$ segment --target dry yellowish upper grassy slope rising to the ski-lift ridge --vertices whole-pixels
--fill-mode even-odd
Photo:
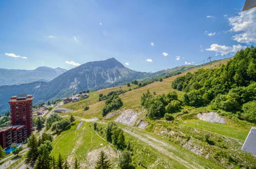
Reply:
[[[214,62],[212,64],[212,66],[207,65],[207,66],[204,66],[201,68],[203,68],[203,69],[216,68],[216,67],[219,67],[221,64],[225,64],[230,59],[231,58],[226,58],[226,59]],[[187,72],[195,72],[198,69],[200,69],[200,68],[194,68]],[[129,91],[129,92],[126,92],[126,93],[120,95],[120,97],[124,103],[123,107],[125,107],[127,109],[140,107],[141,95],[143,93],[145,93],[147,90],[150,90],[151,92],[156,92],[157,95],[167,94],[170,91],[176,91],[178,93],[178,95],[181,96],[183,94],[183,92],[172,89],[171,82],[176,77],[183,76],[187,72],[163,79],[162,82],[160,82],[160,81],[153,82],[145,87],[135,89],[135,90],[132,90],[132,91]],[[129,88],[133,89],[134,87],[135,87],[135,85],[133,85],[133,84],[131,84],[131,87],[122,86],[122,90],[128,90]],[[85,117],[85,118],[91,118],[91,117],[102,118],[101,111],[102,111],[102,108],[104,107],[104,101],[99,102],[99,100],[98,100],[99,94],[100,93],[107,94],[110,91],[117,91],[117,90],[120,90],[120,87],[112,87],[112,88],[102,89],[99,91],[94,91],[89,94],[90,95],[89,98],[84,99],[79,102],[65,104],[62,106],[62,108],[68,108],[68,109],[75,110],[74,115],[76,115],[76,116]],[[90,109],[87,111],[84,111],[83,108],[86,105],[89,105]]]

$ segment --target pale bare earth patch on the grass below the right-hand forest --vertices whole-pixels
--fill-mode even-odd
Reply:
[[[226,123],[225,118],[219,116],[216,112],[209,112],[209,113],[198,113],[196,115],[200,120],[204,120],[207,122],[212,123]]]

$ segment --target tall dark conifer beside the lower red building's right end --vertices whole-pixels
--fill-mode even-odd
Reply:
[[[37,152],[37,146],[38,146],[38,142],[36,140],[36,137],[34,134],[31,134],[30,137],[27,139],[28,141],[28,152],[26,154],[26,159],[25,159],[25,163],[29,164],[30,162],[36,160],[37,156],[38,156],[38,152]]]

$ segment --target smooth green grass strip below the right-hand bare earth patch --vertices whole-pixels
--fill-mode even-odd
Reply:
[[[241,141],[244,141],[249,133],[249,129],[238,128],[227,124],[211,123],[196,119],[186,120],[185,123],[180,125],[186,125],[198,130],[221,134],[231,138],[239,139]]]

